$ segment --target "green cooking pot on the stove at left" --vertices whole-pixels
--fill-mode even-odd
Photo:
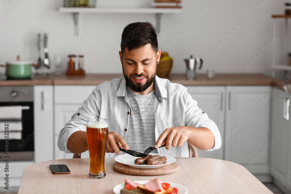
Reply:
[[[31,61],[6,62],[6,76],[10,79],[29,79],[31,77]]]

